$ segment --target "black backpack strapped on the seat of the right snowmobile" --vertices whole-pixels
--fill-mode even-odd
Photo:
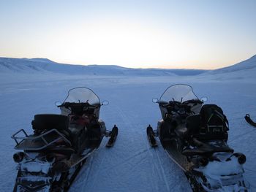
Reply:
[[[200,110],[200,138],[227,140],[228,121],[222,108],[216,104],[205,104]]]

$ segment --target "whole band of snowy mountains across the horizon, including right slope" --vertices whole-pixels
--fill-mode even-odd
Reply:
[[[132,69],[115,65],[59,64],[48,58],[1,58],[0,74],[88,74],[114,76],[210,76],[216,80],[255,78],[256,55],[232,66],[215,70],[200,69]]]

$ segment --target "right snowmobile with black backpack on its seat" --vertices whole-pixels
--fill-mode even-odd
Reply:
[[[243,164],[246,156],[227,145],[228,121],[220,107],[204,104],[189,85],[172,85],[160,99],[162,120],[147,127],[152,147],[157,139],[184,171],[192,191],[247,191]],[[206,100],[204,100],[206,101]]]

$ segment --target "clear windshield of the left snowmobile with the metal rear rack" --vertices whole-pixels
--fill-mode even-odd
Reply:
[[[89,88],[72,88],[69,90],[67,98],[64,100],[65,102],[70,103],[86,103],[88,102],[91,105],[100,105],[99,97],[91,91]]]

